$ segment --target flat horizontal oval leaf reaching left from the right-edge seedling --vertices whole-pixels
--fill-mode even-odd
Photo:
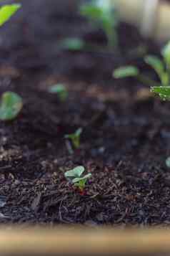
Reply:
[[[119,67],[114,70],[114,78],[136,77],[139,75],[138,68],[134,66]]]

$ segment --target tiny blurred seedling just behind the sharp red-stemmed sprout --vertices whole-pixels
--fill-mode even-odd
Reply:
[[[80,147],[80,139],[81,139],[81,133],[83,129],[79,128],[75,131],[75,133],[70,133],[65,135],[65,138],[67,141],[71,141],[71,145],[67,144],[67,148],[70,153],[74,152],[74,148],[77,149]]]

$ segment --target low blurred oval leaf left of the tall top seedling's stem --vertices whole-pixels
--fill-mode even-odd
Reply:
[[[85,47],[84,40],[79,38],[66,38],[60,41],[59,46],[69,51],[81,51]]]

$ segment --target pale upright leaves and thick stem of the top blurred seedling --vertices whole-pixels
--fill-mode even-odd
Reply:
[[[94,24],[101,27],[107,37],[109,49],[118,46],[116,27],[119,24],[116,8],[111,0],[91,0],[90,3],[82,4],[80,14]]]

